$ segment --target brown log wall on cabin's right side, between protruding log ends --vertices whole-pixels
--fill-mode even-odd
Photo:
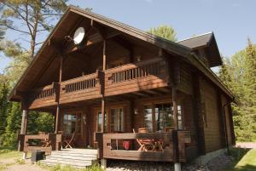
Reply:
[[[217,91],[210,83],[201,78],[201,102],[205,108],[204,115],[204,132],[206,151],[217,151],[222,148],[222,136],[220,128],[221,119],[219,118]]]

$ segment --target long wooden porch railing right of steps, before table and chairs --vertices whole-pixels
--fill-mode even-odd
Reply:
[[[140,150],[137,140],[152,140],[151,149],[148,151]],[[190,132],[183,130],[174,130],[170,133],[103,134],[103,158],[185,162],[185,144],[189,143],[190,140]],[[125,150],[122,146],[124,141],[130,142],[129,150]]]

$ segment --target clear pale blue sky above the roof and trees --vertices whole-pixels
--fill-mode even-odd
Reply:
[[[97,14],[143,31],[172,26],[178,40],[213,31],[225,57],[245,48],[247,37],[256,43],[255,0],[69,0],[69,4],[92,8]],[[8,32],[7,37],[13,40],[19,34]],[[8,63],[2,54],[0,73]]]

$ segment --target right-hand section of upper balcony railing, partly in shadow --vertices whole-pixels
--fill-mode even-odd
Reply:
[[[105,71],[105,95],[128,94],[168,85],[166,61],[153,59]]]

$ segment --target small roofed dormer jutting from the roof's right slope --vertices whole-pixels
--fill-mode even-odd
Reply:
[[[213,32],[178,41],[177,43],[191,48],[206,66],[221,66],[222,60]]]

